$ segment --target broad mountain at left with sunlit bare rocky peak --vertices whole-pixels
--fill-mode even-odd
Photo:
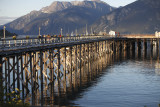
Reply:
[[[38,34],[41,27],[41,34],[71,33],[93,24],[101,16],[114,10],[105,2],[92,1],[55,1],[50,6],[39,11],[32,11],[11,23],[6,24],[9,31],[17,34]]]

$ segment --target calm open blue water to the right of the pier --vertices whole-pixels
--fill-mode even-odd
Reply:
[[[124,55],[122,55],[124,56]],[[82,107],[159,107],[160,63],[153,52],[115,58],[91,86],[71,100]],[[128,55],[131,56],[131,55]]]

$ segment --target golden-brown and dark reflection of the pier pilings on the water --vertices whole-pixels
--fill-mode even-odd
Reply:
[[[98,60],[89,60],[83,63],[81,73],[72,73],[66,78],[66,90],[64,86],[59,86],[59,91],[54,90],[54,100],[51,102],[51,97],[46,99],[47,105],[75,106],[72,101],[80,97],[79,95],[86,91],[89,87],[96,85],[97,79],[103,74],[103,70],[113,62],[113,54],[106,54],[99,57]],[[74,68],[75,69],[75,68]],[[61,81],[62,83],[65,81]],[[72,81],[72,82],[71,82]],[[56,85],[55,85],[56,86]]]

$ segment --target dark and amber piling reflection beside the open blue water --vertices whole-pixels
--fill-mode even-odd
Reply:
[[[83,97],[84,91],[88,88],[94,86],[98,82],[98,78],[103,75],[103,70],[107,66],[113,64],[113,55],[106,54],[104,57],[100,57],[99,60],[94,62],[89,62],[82,67],[81,81],[76,79],[77,84],[71,84],[67,88],[67,92],[61,90],[60,96],[55,96],[54,105],[61,106],[77,106],[73,103],[73,100]],[[77,77],[78,78],[78,77]]]

